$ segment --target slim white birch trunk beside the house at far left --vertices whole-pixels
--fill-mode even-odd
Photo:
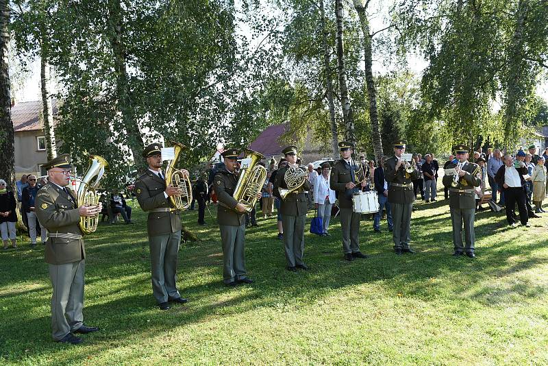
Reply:
[[[55,127],[53,126],[53,110],[49,97],[49,64],[44,40],[40,46],[40,88],[42,91],[42,114],[44,117],[44,134],[46,138],[47,160],[57,157],[57,144],[55,143]]]

